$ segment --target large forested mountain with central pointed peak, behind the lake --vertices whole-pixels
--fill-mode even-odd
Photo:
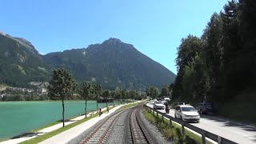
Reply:
[[[174,82],[174,73],[155,62],[134,46],[117,38],[87,48],[65,50],[43,56],[53,67],[70,70],[79,82],[99,82],[109,89],[145,89]]]

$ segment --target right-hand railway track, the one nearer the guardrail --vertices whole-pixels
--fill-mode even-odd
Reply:
[[[140,108],[140,107],[139,107]],[[150,143],[153,144],[150,135],[146,132],[146,129],[142,125],[140,118],[138,118],[138,107],[130,113],[130,134],[132,143]]]

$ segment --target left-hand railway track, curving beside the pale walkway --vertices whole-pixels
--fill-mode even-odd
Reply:
[[[114,126],[115,120],[126,110],[119,111],[116,114],[113,114],[109,118],[106,118],[99,126],[97,126],[93,132],[91,132],[86,138],[80,142],[81,144],[89,144],[89,143],[104,143],[106,142],[106,138],[110,135],[110,131]]]

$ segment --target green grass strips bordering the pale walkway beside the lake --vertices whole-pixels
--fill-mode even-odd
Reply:
[[[110,110],[113,109],[113,108],[114,108],[114,107],[110,107]],[[105,112],[106,112],[106,110],[103,110],[103,111],[102,111],[102,113],[105,113]],[[38,136],[38,137],[36,137],[36,138],[32,138],[32,139],[30,139],[30,140],[27,140],[27,141],[21,142],[21,143],[22,143],[22,144],[31,144],[31,143],[42,142],[42,141],[44,141],[44,140],[46,140],[46,139],[48,139],[48,138],[53,137],[54,135],[60,134],[60,133],[62,133],[63,131],[69,130],[69,129],[71,129],[71,128],[74,127],[74,126],[78,126],[79,124],[81,124],[81,123],[83,123],[83,122],[86,122],[86,121],[90,120],[91,118],[95,118],[95,117],[98,117],[98,113],[93,114],[91,117],[83,118],[82,120],[79,120],[79,121],[77,121],[77,122],[71,123],[70,125],[67,125],[67,126],[65,126],[65,127],[62,127],[62,128],[60,128],[60,129],[58,129],[58,130],[51,131],[51,132],[49,132],[49,133],[47,133],[47,134],[43,134],[43,135],[41,135],[41,136]],[[60,122],[57,122],[57,123],[55,123],[55,124],[58,124],[58,123],[60,123]],[[43,128],[46,128],[46,127],[48,127],[48,126],[54,126],[54,122],[53,122],[53,123],[50,123],[49,125],[42,126],[41,128],[38,128],[37,131],[38,131],[38,130],[42,130]],[[36,130],[33,130],[33,131],[35,132]]]

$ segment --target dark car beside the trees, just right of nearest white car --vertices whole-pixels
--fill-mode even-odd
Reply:
[[[199,114],[214,114],[214,104],[211,102],[200,102],[195,106]]]

